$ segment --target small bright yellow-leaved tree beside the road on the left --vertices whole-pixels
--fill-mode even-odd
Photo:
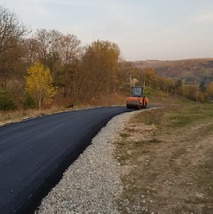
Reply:
[[[39,110],[42,103],[52,102],[56,89],[53,86],[53,77],[48,68],[45,68],[40,62],[35,62],[27,69],[25,79],[25,91],[37,101]]]

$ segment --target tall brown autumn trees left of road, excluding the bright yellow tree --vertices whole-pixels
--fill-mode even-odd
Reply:
[[[31,34],[14,13],[0,7],[0,109],[45,103],[46,96],[38,98],[41,85],[34,85],[32,93],[33,89],[28,89],[33,80],[26,84],[32,75],[27,71],[36,63],[40,63],[39,69],[43,66],[43,71],[50,70],[55,100],[65,100],[66,105],[121,89],[118,79],[122,60],[117,44],[97,40],[82,46],[77,36],[57,30],[38,29]]]

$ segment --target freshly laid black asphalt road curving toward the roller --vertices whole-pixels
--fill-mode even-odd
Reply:
[[[87,109],[0,127],[0,213],[32,213],[97,132],[126,111]]]

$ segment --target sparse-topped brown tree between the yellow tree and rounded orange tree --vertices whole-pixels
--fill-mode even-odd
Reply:
[[[37,60],[51,70],[64,97],[76,91],[76,67],[82,52],[80,43],[75,35],[40,29],[28,45],[29,56],[37,56]]]

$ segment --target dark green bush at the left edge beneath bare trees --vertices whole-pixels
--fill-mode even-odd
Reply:
[[[0,92],[0,110],[15,110],[16,104],[6,92]]]

